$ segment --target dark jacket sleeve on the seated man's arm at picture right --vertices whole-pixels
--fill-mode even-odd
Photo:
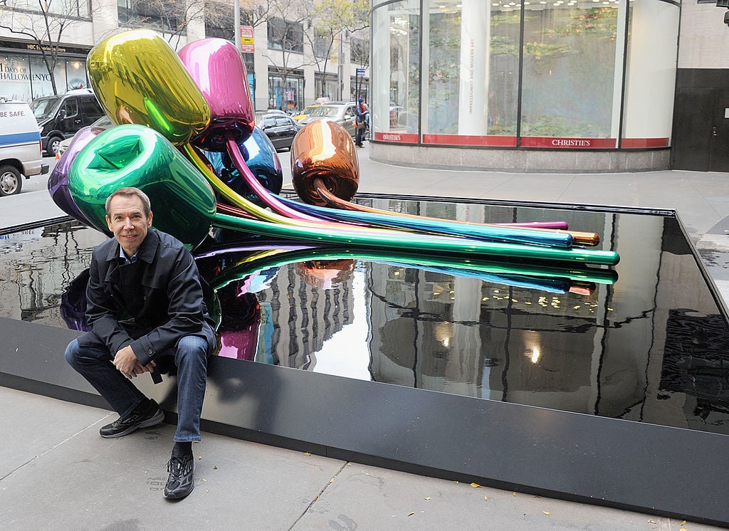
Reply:
[[[167,287],[169,320],[131,342],[142,365],[147,365],[158,353],[175,347],[183,336],[200,334],[206,326],[203,288],[192,254],[183,248],[173,264]]]

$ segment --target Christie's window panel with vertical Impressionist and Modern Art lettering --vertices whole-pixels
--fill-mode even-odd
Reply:
[[[429,2],[423,143],[515,146],[521,5]]]

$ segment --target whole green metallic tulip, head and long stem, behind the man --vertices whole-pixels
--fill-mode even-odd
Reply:
[[[160,133],[149,127],[124,125],[98,135],[82,149],[71,165],[69,191],[79,210],[93,223],[104,219],[106,197],[122,186],[144,190],[161,218],[155,226],[195,247],[208,227],[248,232],[254,235],[346,245],[351,248],[408,248],[456,256],[498,256],[499,259],[580,261],[617,264],[613,251],[552,248],[539,245],[491,243],[467,238],[418,235],[390,229],[321,227],[301,222],[286,225],[243,219],[217,213],[214,192],[208,181]]]

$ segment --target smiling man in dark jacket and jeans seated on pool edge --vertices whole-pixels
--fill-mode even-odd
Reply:
[[[114,438],[164,420],[132,379],[174,360],[178,422],[164,496],[180,499],[195,486],[192,442],[200,441],[207,356],[216,346],[202,281],[190,251],[151,228],[149,197],[140,189],[107,198],[106,224],[114,238],[93,251],[86,289],[91,330],[69,344],[66,361],[120,415],[99,430]]]

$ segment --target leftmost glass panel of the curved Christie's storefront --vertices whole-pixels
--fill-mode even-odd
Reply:
[[[371,119],[375,138],[418,142],[420,108],[420,1],[373,11]]]

